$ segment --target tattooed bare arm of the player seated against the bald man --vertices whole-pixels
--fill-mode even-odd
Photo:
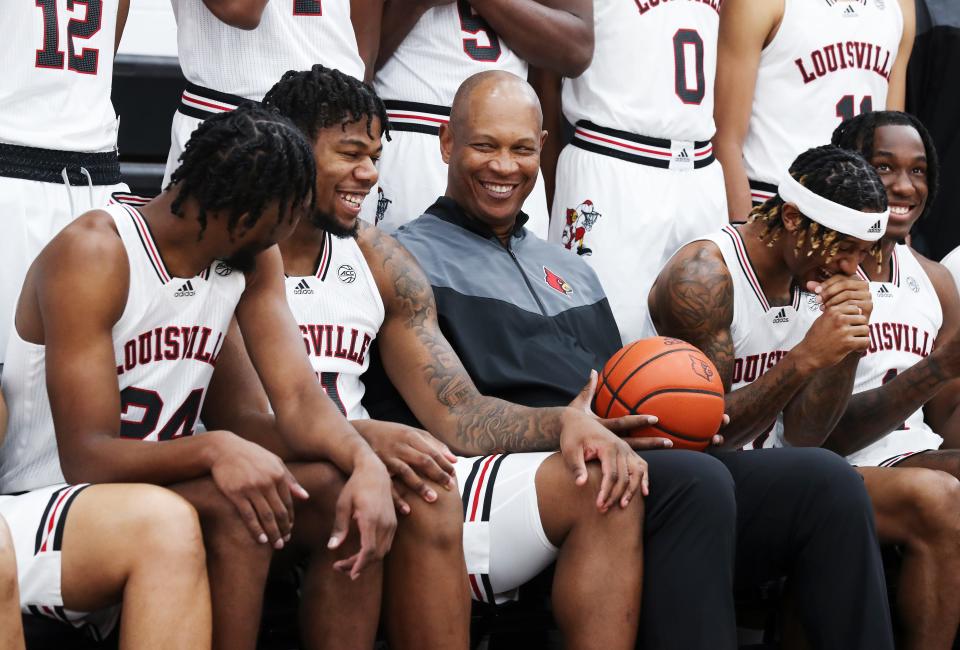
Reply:
[[[399,316],[397,327],[388,329],[385,325],[382,330],[382,337],[404,342],[403,346],[394,346],[404,352],[402,377],[401,373],[397,377],[391,374],[391,379],[405,397],[415,391],[405,392],[408,387],[400,383],[401,379],[423,381],[429,386],[433,411],[418,409],[417,404],[407,401],[431,433],[464,455],[558,449],[564,409],[533,409],[481,395],[440,331],[433,289],[410,253],[375,228],[361,231],[360,244],[371,253],[368,262],[376,264],[377,268],[374,264],[371,268],[384,302],[389,302],[389,309]],[[382,350],[390,373],[386,346]],[[419,372],[419,377],[411,381],[411,372]],[[436,417],[428,423],[423,413]]]

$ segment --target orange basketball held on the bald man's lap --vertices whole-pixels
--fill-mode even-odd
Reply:
[[[640,339],[600,371],[593,410],[602,418],[656,415],[657,424],[631,435],[670,438],[675,449],[702,451],[720,430],[723,382],[707,355],[686,341]]]

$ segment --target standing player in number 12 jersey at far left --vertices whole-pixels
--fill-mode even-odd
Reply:
[[[33,258],[78,214],[127,189],[110,88],[129,4],[13,2],[0,15],[0,372]]]

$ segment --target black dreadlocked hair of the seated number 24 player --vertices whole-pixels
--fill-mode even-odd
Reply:
[[[171,211],[184,217],[188,199],[199,205],[200,236],[207,216],[226,217],[232,234],[252,228],[273,202],[281,219],[312,206],[316,183],[313,149],[290,120],[249,103],[204,120],[190,136],[167,189],[176,186]],[[242,223],[241,223],[242,217]]]

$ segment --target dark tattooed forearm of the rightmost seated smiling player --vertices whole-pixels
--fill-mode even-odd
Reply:
[[[843,456],[863,449],[900,428],[950,379],[936,355],[928,355],[879,388],[853,395],[824,446]]]

